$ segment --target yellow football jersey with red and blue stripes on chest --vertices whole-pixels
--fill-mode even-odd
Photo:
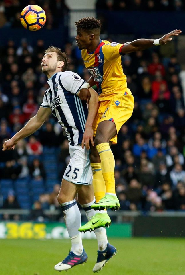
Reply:
[[[99,101],[109,100],[115,94],[131,94],[121,65],[122,44],[100,40],[94,52],[81,50],[85,67],[96,81]]]

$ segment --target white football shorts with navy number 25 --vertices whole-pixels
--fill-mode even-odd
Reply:
[[[89,151],[81,145],[69,146],[70,162],[65,170],[63,179],[73,184],[88,185],[92,183],[92,169],[89,160]]]

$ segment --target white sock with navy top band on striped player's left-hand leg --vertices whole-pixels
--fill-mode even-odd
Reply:
[[[78,231],[78,228],[81,226],[81,214],[76,200],[62,203],[61,208],[64,215],[67,232],[71,238],[71,251],[76,255],[81,255],[83,251],[83,245],[81,233]]]

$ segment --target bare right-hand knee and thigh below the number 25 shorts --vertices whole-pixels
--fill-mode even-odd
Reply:
[[[86,204],[94,200],[94,189],[92,185],[83,185],[78,191],[79,204]]]

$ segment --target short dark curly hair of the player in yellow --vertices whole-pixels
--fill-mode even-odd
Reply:
[[[100,29],[102,23],[94,17],[85,17],[75,22],[75,26],[83,30],[94,30]]]

